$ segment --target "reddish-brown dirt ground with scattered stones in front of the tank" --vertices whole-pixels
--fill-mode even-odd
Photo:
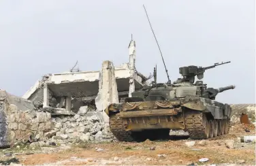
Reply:
[[[1,150],[0,161],[15,157],[22,165],[255,165],[255,143],[238,141],[244,135],[255,135],[254,125],[236,125],[228,135],[204,140],[204,144],[187,137],[171,137],[142,143],[84,143],[39,150],[12,148]],[[234,148],[225,145],[230,139],[234,140]],[[193,141],[194,146],[185,144]],[[12,156],[6,156],[7,152],[12,152]],[[200,163],[202,158],[208,161]]]

